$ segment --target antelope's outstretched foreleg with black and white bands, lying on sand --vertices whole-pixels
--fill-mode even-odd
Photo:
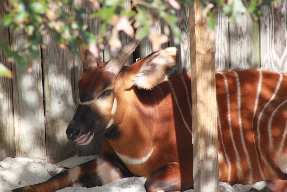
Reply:
[[[79,166],[67,169],[53,176],[49,180],[21,187],[15,191],[56,191],[65,187],[95,187],[123,178],[120,168],[103,156],[88,161]]]

